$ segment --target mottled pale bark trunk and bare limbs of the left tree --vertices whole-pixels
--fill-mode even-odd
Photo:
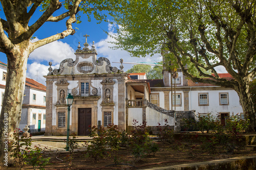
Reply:
[[[52,0],[49,2],[49,7],[42,13],[39,19],[31,26],[28,26],[31,16],[41,2],[43,1],[24,0],[18,3],[16,1],[1,1],[6,20],[0,18],[0,52],[5,53],[8,59],[7,81],[0,116],[1,165],[5,163],[4,155],[6,150],[4,141],[6,141],[7,138],[9,142],[12,141],[13,133],[15,130],[18,130],[17,128],[19,127],[29,54],[42,45],[75,33],[75,30],[72,28],[72,23],[76,22],[75,14],[81,0],[75,0],[68,12],[56,17],[53,17],[52,14],[61,7],[61,3],[58,0]],[[29,6],[31,6],[31,8],[28,11],[27,8]],[[30,42],[31,36],[45,22],[56,22],[65,18],[67,18],[67,30],[34,43]],[[11,163],[10,156],[8,156],[8,159],[8,163]],[[6,166],[4,165],[4,167]]]

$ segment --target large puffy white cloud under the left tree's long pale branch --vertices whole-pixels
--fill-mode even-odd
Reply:
[[[35,38],[32,42],[38,40],[38,38]],[[75,59],[74,53],[75,51],[69,44],[61,41],[54,41],[34,50],[29,55],[29,59],[35,62],[51,61],[53,64],[59,64],[62,60],[67,58]]]

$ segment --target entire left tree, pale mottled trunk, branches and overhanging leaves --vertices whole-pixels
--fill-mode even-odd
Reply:
[[[72,23],[79,21],[80,14],[96,18],[99,22],[107,20],[106,14],[112,14],[112,9],[118,9],[118,1],[86,1],[86,0],[23,0],[0,1],[0,52],[7,56],[7,81],[0,117],[0,163],[3,163],[4,138],[4,113],[8,113],[8,134],[12,139],[13,132],[19,127],[22,112],[23,94],[26,80],[27,60],[29,54],[36,48],[75,34]],[[38,14],[37,11],[41,11]],[[56,12],[58,11],[58,12]],[[39,16],[40,15],[40,16]],[[32,19],[31,19],[32,18]],[[35,19],[37,18],[37,19]],[[66,20],[66,25],[59,25],[61,20]],[[61,33],[52,33],[50,37],[43,37],[36,42],[31,42],[33,34],[46,22],[47,31],[51,34],[51,27],[63,27]],[[47,29],[46,27],[46,29]]]

